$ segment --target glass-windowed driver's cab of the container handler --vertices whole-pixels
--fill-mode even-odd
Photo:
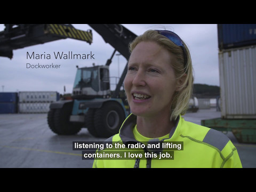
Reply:
[[[77,68],[73,97],[81,99],[109,98],[109,67],[93,66]]]

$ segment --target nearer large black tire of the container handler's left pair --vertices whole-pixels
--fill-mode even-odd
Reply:
[[[69,116],[72,112],[73,103],[65,103],[60,109],[55,109],[54,112],[54,133],[60,135],[77,134],[83,127],[81,123],[73,123],[69,121]]]

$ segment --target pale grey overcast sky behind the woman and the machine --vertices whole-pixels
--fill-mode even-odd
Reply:
[[[87,24],[72,24],[76,29],[92,29]],[[188,45],[194,67],[195,83],[219,86],[218,65],[218,35],[217,24],[122,24],[136,35],[141,35],[148,29],[172,30],[177,33]],[[0,31],[4,30],[4,24],[0,24]],[[94,30],[93,43],[76,39],[61,39],[59,41],[38,44],[13,50],[13,58],[0,57],[0,92],[19,91],[58,91],[71,93],[76,75],[76,66],[90,67],[105,65],[111,57],[114,48],[105,43],[103,38]],[[68,54],[90,54],[94,59],[55,59],[53,52]],[[27,52],[35,54],[51,55],[51,59],[27,59]],[[119,56],[119,76],[126,64],[126,59]],[[31,65],[60,65],[56,69],[27,68]],[[110,76],[118,76],[118,56],[115,56],[110,65]],[[114,79],[111,83],[115,83]],[[113,86],[111,86],[113,87]]]

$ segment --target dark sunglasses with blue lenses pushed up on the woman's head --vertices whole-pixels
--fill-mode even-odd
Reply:
[[[155,31],[157,31],[160,35],[163,35],[163,36],[169,38],[175,45],[178,45],[181,47],[181,49],[183,51],[183,57],[184,57],[184,68],[186,68],[188,58],[187,58],[185,46],[182,43],[181,38],[177,34],[173,33],[172,31],[169,31],[169,30],[155,30]]]

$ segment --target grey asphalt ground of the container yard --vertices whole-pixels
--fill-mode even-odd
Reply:
[[[187,113],[187,121],[201,124],[201,119],[220,117],[215,109]],[[104,141],[93,137],[87,129],[76,135],[57,135],[47,125],[47,114],[0,114],[1,168],[91,168],[92,160],[82,160],[82,151],[73,150],[73,141]],[[256,167],[256,144],[238,143],[244,168]]]

